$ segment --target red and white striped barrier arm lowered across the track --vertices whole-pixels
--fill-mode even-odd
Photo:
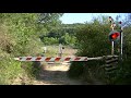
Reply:
[[[74,58],[48,58],[48,57],[20,57],[14,58],[17,61],[87,61],[87,57],[74,57]]]

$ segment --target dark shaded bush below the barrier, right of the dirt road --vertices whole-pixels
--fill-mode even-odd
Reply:
[[[104,61],[72,62],[68,76],[71,78],[82,78],[87,83],[93,83],[94,79],[100,79],[103,83],[106,83],[103,65]]]

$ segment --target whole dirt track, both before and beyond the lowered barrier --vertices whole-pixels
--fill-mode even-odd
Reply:
[[[76,50],[64,49],[67,56],[74,57]],[[83,82],[82,79],[72,79],[68,77],[68,70],[70,64],[43,64],[38,78],[32,79],[29,85],[91,85],[91,83]],[[98,84],[98,83],[95,83]]]

